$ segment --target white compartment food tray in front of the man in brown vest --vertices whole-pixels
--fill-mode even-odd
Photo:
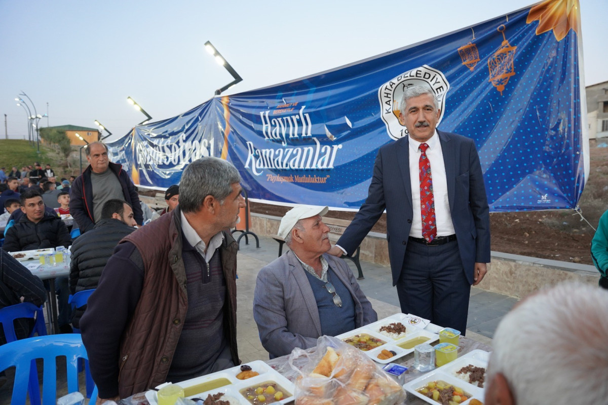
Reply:
[[[201,398],[202,400],[205,400],[209,394],[223,392],[224,395],[230,396],[237,400],[240,405],[251,405],[249,400],[247,400],[247,398],[240,393],[240,390],[270,382],[277,383],[286,390],[285,397],[280,401],[275,401],[273,404],[286,404],[294,400],[293,395],[295,387],[291,381],[280,375],[276,370],[272,369],[272,367],[261,360],[251,361],[246,364],[251,367],[252,371],[258,372],[260,375],[247,379],[238,379],[237,374],[241,372],[241,366],[237,365],[236,367],[232,367],[232,369],[222,370],[204,376],[187,379],[186,381],[181,381],[179,383],[176,382],[174,384],[178,384],[182,388],[187,389],[188,387],[207,383],[209,381],[213,381],[214,379],[226,378],[228,381],[230,381],[230,384],[216,389],[198,392],[194,395],[187,396],[186,398]],[[169,383],[161,384],[157,386],[156,389],[161,389],[167,384]],[[157,405],[156,391],[148,390],[146,392],[146,399],[151,405]]]

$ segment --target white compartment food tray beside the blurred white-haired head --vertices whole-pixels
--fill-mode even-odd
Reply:
[[[484,367],[487,370],[489,355],[490,354],[487,351],[483,351],[483,350],[479,350],[479,349],[469,351],[469,353],[466,353],[465,355],[460,356],[459,358],[455,359],[454,361],[444,364],[441,367],[438,367],[437,369],[424,374],[423,376],[413,379],[409,383],[405,384],[403,386],[403,388],[407,392],[412,393],[413,395],[417,396],[418,398],[421,398],[422,400],[426,401],[427,403],[437,405],[438,404],[437,401],[434,401],[434,400],[432,400],[432,398],[429,398],[427,396],[422,395],[419,392],[416,392],[416,389],[420,389],[421,387],[425,386],[427,383],[430,383],[431,381],[441,380],[441,381],[445,381],[448,384],[452,384],[455,387],[460,387],[466,393],[471,394],[471,396],[466,401],[461,403],[462,405],[468,404],[473,398],[477,399],[478,401],[482,401],[482,403],[483,403],[485,389],[474,386],[473,384],[470,384],[468,381],[465,381],[463,379],[457,378],[456,376],[454,376],[453,373],[457,372],[462,367],[465,367],[466,365],[469,365],[469,364],[475,365],[475,367]],[[486,381],[486,383],[487,383],[487,381]]]

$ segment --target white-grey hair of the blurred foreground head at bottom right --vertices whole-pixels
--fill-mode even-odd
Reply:
[[[608,292],[561,283],[500,321],[488,378],[502,373],[517,405],[599,404],[608,398]]]

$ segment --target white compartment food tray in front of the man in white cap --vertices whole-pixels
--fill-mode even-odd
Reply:
[[[424,342],[424,343],[429,343],[429,344],[433,343],[433,342],[437,342],[439,339],[439,335],[437,333],[435,333],[435,328],[438,328],[437,325],[429,324],[429,325],[427,325],[426,329],[421,329],[421,328],[409,325],[407,323],[407,320],[409,319],[409,317],[411,317],[411,316],[406,315],[406,314],[395,314],[395,315],[386,317],[384,319],[377,320],[376,322],[373,322],[373,324],[365,325],[364,327],[351,330],[350,332],[339,334],[338,336],[336,336],[336,338],[340,339],[340,340],[344,340],[344,339],[351,338],[352,336],[354,336],[356,334],[367,333],[368,335],[373,336],[376,339],[381,339],[382,341],[384,341],[386,343],[379,347],[373,348],[371,350],[368,350],[368,351],[362,350],[362,351],[363,351],[363,353],[365,353],[365,355],[367,355],[370,359],[372,359],[375,362],[378,362],[380,364],[389,364],[390,362],[393,362],[396,359],[402,358],[403,356],[409,355],[409,353],[412,353],[414,351],[413,347],[409,348],[409,349],[401,348],[398,346],[399,344],[407,342],[410,339],[418,338],[420,336],[429,338],[429,340]],[[379,329],[382,326],[393,324],[395,322],[401,322],[402,324],[405,325],[406,333],[404,334],[403,337],[401,337],[399,339],[393,339],[393,338],[389,338],[389,336],[386,336],[385,334],[382,334],[379,332]],[[430,330],[428,330],[429,327],[430,327]],[[440,329],[441,328],[439,328],[439,330]],[[390,350],[395,351],[396,355],[391,358],[381,360],[378,358],[378,355],[380,354],[382,349],[389,350],[389,351]]]

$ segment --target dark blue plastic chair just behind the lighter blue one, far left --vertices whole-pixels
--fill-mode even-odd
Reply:
[[[36,318],[36,322],[32,332],[28,336],[32,338],[34,333],[38,336],[46,336],[46,326],[44,325],[44,314],[42,306],[38,307],[31,302],[22,302],[15,305],[5,306],[0,308],[0,324],[4,330],[4,337],[7,342],[15,342],[17,335],[15,333],[15,319],[19,318]],[[38,388],[38,372],[36,372],[36,361],[32,361],[33,367],[30,370],[29,393],[30,402],[40,403],[40,389]]]

